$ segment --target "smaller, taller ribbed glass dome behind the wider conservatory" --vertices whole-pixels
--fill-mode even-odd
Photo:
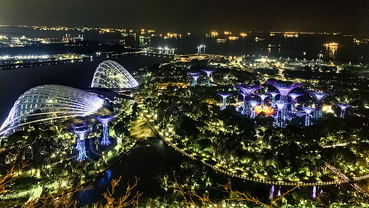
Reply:
[[[91,83],[91,87],[100,88],[131,88],[137,86],[137,81],[127,69],[111,60],[99,64]]]

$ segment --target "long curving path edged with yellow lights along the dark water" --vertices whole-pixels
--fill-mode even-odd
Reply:
[[[140,106],[143,109],[143,106]],[[324,186],[324,185],[334,185],[334,184],[341,184],[342,182],[339,180],[334,180],[330,182],[283,182],[283,181],[273,181],[273,180],[264,180],[256,177],[248,177],[246,175],[240,175],[237,173],[234,173],[232,171],[227,171],[224,168],[222,168],[222,165],[212,165],[206,162],[207,159],[198,159],[195,157],[195,153],[189,154],[186,153],[185,150],[179,148],[176,146],[176,144],[172,144],[172,141],[170,137],[167,137],[163,134],[163,132],[160,130],[160,128],[154,123],[154,119],[152,119],[152,116],[150,116],[147,112],[147,110],[143,109],[141,110],[141,113],[143,114],[143,118],[147,121],[147,124],[150,125],[150,127],[156,131],[156,133],[161,137],[161,139],[165,142],[165,144],[168,144],[168,146],[171,146],[175,150],[179,151],[182,155],[186,155],[187,157],[190,157],[191,159],[197,160],[201,163],[203,163],[206,166],[209,166],[210,168],[213,168],[215,171],[222,172],[227,175],[231,175],[233,177],[240,177],[244,180],[249,180],[253,182],[259,182],[263,184],[270,184],[270,185],[280,185],[280,186],[305,186],[305,187],[312,187],[312,186]],[[336,172],[334,172],[336,173]],[[337,174],[338,175],[338,174]],[[347,176],[346,176],[347,177]]]

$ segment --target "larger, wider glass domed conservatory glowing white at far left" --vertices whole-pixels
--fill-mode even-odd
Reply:
[[[42,85],[29,89],[15,101],[0,128],[8,135],[30,124],[66,121],[98,111],[105,100],[81,89],[62,85]]]

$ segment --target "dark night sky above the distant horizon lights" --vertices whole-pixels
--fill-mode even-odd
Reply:
[[[154,28],[172,32],[369,32],[369,2],[1,0],[0,24]]]

